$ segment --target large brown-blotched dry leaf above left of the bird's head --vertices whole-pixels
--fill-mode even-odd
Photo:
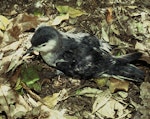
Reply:
[[[31,28],[36,28],[39,23],[40,20],[37,16],[28,15],[26,13],[19,14],[17,17],[10,21],[10,24],[4,33],[0,47],[4,47],[18,40],[19,35],[22,32],[30,30]]]

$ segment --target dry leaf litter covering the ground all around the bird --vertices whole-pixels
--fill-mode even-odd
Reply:
[[[118,7],[101,9],[96,2],[91,1],[64,2],[65,5],[64,3],[61,5],[61,1],[47,2],[51,6],[54,5],[56,8],[54,10],[44,2],[46,1],[40,2],[40,7],[47,13],[45,16],[42,16],[44,13],[41,9],[39,9],[41,11],[35,9],[36,13],[39,12],[38,17],[19,12],[11,19],[5,15],[0,16],[0,118],[7,115],[8,118],[130,119],[138,115],[140,118],[148,119],[149,9],[146,7],[139,9],[136,2],[130,6],[127,3],[126,6],[119,3]],[[80,9],[71,6],[75,4]],[[112,3],[101,4],[107,6]],[[113,4],[116,4],[115,1]],[[56,71],[41,60],[31,60],[31,57],[37,59],[36,56],[23,56],[31,45],[29,41],[33,32],[30,30],[43,23],[62,30],[76,26],[77,29],[80,28],[79,31],[83,29],[85,32],[92,32],[110,44],[118,46],[112,51],[114,55],[142,51],[143,56],[140,60],[146,62],[146,65],[141,67],[146,70],[147,78],[140,86],[136,86],[139,88],[138,98],[141,102],[133,99],[134,95],[128,95],[128,91],[133,88],[129,82],[120,82],[116,79],[102,79],[102,81],[98,79],[96,83],[78,82],[79,79],[73,81],[74,79],[64,75],[57,76]],[[34,66],[29,66],[28,63]],[[40,79],[48,81],[41,83]],[[136,91],[137,88],[133,90]]]

